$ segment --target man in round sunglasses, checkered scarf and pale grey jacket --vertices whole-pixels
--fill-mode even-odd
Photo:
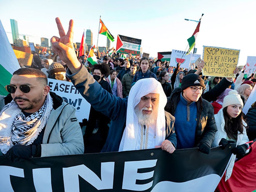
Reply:
[[[0,114],[0,149],[11,162],[84,152],[74,107],[47,84],[40,70],[21,68],[5,86],[13,100]]]

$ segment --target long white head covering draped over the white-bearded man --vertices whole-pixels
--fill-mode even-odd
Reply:
[[[156,145],[161,145],[165,140],[165,110],[167,103],[164,90],[160,82],[155,78],[145,78],[137,81],[130,90],[127,103],[126,127],[123,132],[123,137],[120,143],[119,151],[135,150],[136,145],[139,145],[139,131],[141,126],[138,123],[137,115],[134,107],[139,104],[140,99],[149,94],[159,94],[158,115],[156,120],[155,142]],[[156,109],[154,109],[156,110]]]

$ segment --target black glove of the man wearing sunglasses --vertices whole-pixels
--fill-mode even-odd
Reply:
[[[41,145],[26,146],[16,144],[6,153],[6,156],[10,162],[18,162],[19,158],[40,157]]]

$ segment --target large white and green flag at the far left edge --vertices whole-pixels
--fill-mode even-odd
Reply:
[[[14,51],[9,43],[4,27],[0,20],[0,94],[7,95],[5,85],[10,84],[12,74],[21,68]]]

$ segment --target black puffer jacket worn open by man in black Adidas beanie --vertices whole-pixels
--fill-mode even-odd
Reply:
[[[175,88],[168,98],[165,110],[174,116],[178,102],[180,101],[181,88]],[[197,104],[197,127],[195,134],[195,146],[204,142],[211,147],[217,131],[213,106],[206,100],[199,98]]]

